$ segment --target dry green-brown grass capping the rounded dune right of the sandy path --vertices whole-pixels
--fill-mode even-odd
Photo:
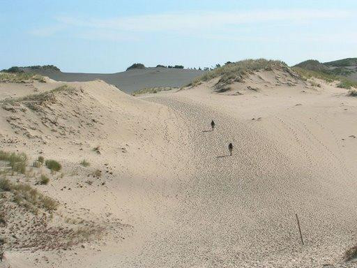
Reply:
[[[195,86],[202,81],[212,80],[215,77],[221,77],[219,82],[242,82],[243,78],[249,73],[257,70],[273,70],[274,68],[282,68],[289,71],[289,67],[283,61],[267,59],[245,59],[234,63],[228,61],[224,66],[218,66],[197,77],[188,86]]]

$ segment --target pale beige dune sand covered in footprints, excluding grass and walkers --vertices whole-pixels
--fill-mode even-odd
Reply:
[[[101,81],[73,82],[75,91],[31,103],[35,110],[7,104],[0,149],[60,161],[63,177],[33,187],[59,200],[54,214],[105,233],[54,250],[11,240],[1,265],[354,267],[343,257],[357,244],[357,98],[280,70],[222,94],[217,81],[140,98]],[[61,84],[1,84],[0,98]]]

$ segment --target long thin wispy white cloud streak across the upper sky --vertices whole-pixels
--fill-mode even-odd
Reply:
[[[187,31],[256,22],[306,22],[341,19],[351,17],[351,15],[351,12],[345,10],[255,10],[249,12],[165,13],[112,19],[57,17],[57,20],[61,24],[68,24],[73,27],[104,28],[121,31]]]

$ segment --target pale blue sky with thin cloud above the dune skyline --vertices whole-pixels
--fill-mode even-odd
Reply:
[[[0,69],[357,57],[356,0],[0,0]]]

